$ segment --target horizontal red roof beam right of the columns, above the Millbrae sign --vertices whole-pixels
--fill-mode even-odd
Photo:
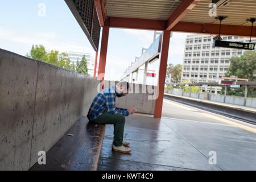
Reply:
[[[218,35],[219,24],[179,22],[172,28],[172,31]],[[250,33],[251,26],[221,25],[221,35],[250,36]],[[256,27],[253,27],[253,36],[256,37]]]

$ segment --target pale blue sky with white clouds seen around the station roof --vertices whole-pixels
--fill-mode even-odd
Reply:
[[[45,7],[46,11],[42,11]],[[26,55],[33,44],[60,52],[89,52],[95,55],[86,35],[64,0],[2,1],[0,6],[0,48]],[[185,38],[173,32],[168,64],[182,64]],[[119,80],[125,69],[148,48],[154,31],[110,28],[106,80]]]

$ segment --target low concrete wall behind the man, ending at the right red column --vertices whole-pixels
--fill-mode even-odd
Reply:
[[[117,84],[117,82],[105,81],[106,86]],[[155,100],[151,99],[154,95],[156,86],[130,84],[131,90],[126,97],[117,98],[117,107],[129,108],[135,107],[137,113],[154,114]]]

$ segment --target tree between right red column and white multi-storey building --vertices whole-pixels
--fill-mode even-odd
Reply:
[[[180,82],[181,72],[182,72],[181,64],[177,64],[175,66],[173,64],[169,64],[166,72],[167,80],[170,82]]]

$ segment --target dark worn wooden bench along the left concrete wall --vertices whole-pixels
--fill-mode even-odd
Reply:
[[[46,165],[36,163],[30,170],[97,170],[104,133],[105,125],[90,124],[83,117],[46,153]]]

